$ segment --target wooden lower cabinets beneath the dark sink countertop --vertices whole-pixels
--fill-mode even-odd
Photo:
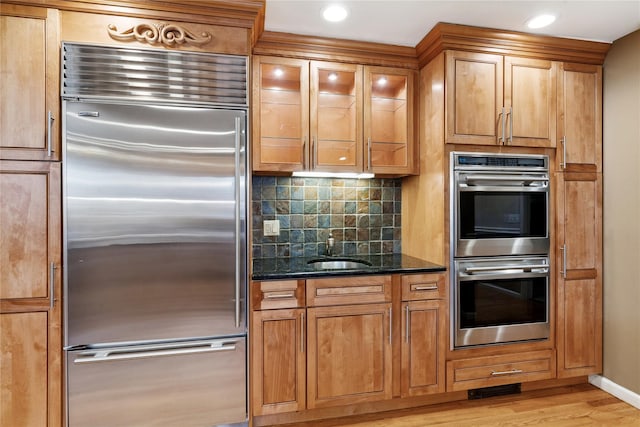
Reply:
[[[253,415],[389,400],[397,380],[396,398],[445,392],[445,277],[252,282]]]

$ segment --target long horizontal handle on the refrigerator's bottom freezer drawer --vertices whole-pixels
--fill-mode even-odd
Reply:
[[[161,356],[178,356],[194,353],[213,353],[220,351],[235,351],[235,342],[209,342],[189,347],[175,346],[147,346],[143,351],[126,349],[105,349],[82,352],[73,363],[97,363],[110,362],[113,360],[132,360]]]

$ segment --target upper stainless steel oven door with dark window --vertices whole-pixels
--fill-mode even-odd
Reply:
[[[549,252],[549,175],[456,171],[456,257]]]

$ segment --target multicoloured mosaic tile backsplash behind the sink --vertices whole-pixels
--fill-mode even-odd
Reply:
[[[253,257],[325,255],[329,232],[336,256],[400,253],[401,182],[253,176]],[[280,235],[264,236],[274,219]]]

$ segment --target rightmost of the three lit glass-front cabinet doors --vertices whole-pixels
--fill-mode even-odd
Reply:
[[[365,67],[364,80],[365,169],[373,173],[415,173],[415,73]]]

